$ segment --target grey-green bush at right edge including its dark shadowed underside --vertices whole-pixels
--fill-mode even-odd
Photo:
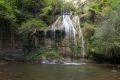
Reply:
[[[96,28],[93,46],[98,55],[103,54],[106,59],[120,58],[120,6],[119,2],[103,22]],[[119,61],[119,60],[117,60]],[[114,62],[115,63],[115,62]],[[120,63],[117,62],[117,63]]]

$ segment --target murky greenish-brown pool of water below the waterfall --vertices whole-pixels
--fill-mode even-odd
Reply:
[[[120,80],[120,70],[100,64],[46,65],[6,64],[0,66],[0,80]]]

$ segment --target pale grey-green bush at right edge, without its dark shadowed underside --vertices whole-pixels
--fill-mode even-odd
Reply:
[[[96,29],[95,38],[97,43],[100,43],[101,46],[105,46],[106,48],[110,48],[113,46],[119,46],[120,41],[120,27],[119,27],[119,15],[120,15],[120,7],[119,5],[113,10],[100,24],[100,27]],[[103,43],[102,43],[103,42]]]

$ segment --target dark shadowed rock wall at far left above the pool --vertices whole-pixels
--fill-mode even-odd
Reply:
[[[23,58],[22,40],[10,26],[0,27],[0,59]]]

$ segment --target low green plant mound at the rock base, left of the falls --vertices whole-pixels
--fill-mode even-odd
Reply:
[[[59,57],[58,50],[56,48],[40,48],[32,51],[26,56],[27,60],[40,60],[43,57],[47,59],[55,59]]]

